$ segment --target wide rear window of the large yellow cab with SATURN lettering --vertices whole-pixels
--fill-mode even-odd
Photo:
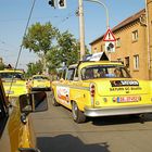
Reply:
[[[93,78],[129,78],[130,75],[124,66],[119,65],[93,65],[81,69],[81,79]]]

